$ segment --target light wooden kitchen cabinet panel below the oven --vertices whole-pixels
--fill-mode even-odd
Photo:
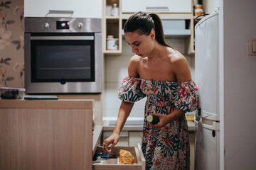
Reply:
[[[0,99],[0,169],[92,169],[92,106]]]

